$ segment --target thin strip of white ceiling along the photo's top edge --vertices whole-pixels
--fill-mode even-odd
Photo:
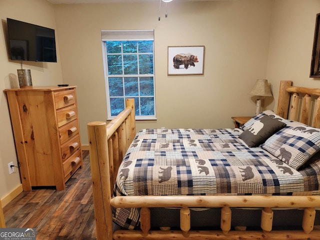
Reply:
[[[75,3],[115,3],[115,2],[158,2],[159,0],[47,0],[53,4],[75,4]],[[174,0],[174,1],[214,1],[214,0]]]

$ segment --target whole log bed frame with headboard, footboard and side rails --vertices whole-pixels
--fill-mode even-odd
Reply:
[[[291,86],[281,81],[277,114],[320,127],[320,89]],[[314,100],[314,103],[313,103]],[[93,201],[98,240],[111,239],[320,239],[320,228],[314,227],[315,208],[320,207],[320,195],[266,196],[116,196],[112,197],[116,172],[122,157],[135,136],[134,100],[126,99],[126,108],[112,121],[87,124],[93,185]],[[138,207],[141,230],[113,232],[114,207]],[[180,207],[181,230],[150,230],[150,207]],[[189,207],[220,207],[221,230],[190,230]],[[231,207],[260,207],[261,230],[230,230]],[[276,207],[303,208],[303,230],[273,230],[273,210]],[[318,229],[316,229],[318,228]]]

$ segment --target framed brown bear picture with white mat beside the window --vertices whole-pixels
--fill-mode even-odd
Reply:
[[[203,75],[204,46],[168,46],[168,75]]]

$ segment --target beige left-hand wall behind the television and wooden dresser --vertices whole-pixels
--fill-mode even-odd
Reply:
[[[16,153],[11,129],[7,100],[3,89],[10,88],[9,74],[16,77],[16,69],[20,68],[18,61],[11,61],[7,54],[6,18],[34,23],[50,28],[56,28],[54,7],[46,0],[0,0],[0,198],[20,185],[18,171],[9,175],[7,164],[10,161],[16,165]],[[57,44],[58,46],[58,44]],[[55,85],[62,82],[59,55],[57,63],[24,61],[23,68],[31,69],[33,85]]]

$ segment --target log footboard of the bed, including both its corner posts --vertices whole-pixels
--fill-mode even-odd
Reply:
[[[113,224],[110,200],[122,155],[135,136],[134,99],[125,99],[125,109],[108,124],[104,121],[89,122],[87,130],[96,238],[112,240]],[[120,155],[121,159],[119,159]]]

